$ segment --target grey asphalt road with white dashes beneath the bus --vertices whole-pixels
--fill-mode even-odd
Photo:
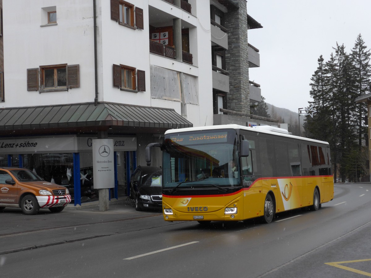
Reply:
[[[165,222],[158,212],[0,213],[0,277],[370,277],[371,183],[275,222]]]

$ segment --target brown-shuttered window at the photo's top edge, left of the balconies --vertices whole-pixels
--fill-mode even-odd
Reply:
[[[111,0],[111,19],[124,26],[144,29],[143,9],[122,0]]]

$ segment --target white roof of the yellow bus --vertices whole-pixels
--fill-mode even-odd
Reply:
[[[305,140],[305,141],[309,141],[309,142],[316,142],[316,143],[322,143],[322,144],[328,145],[328,142],[325,142],[325,141],[315,140],[315,139],[301,137],[301,136],[290,135],[290,134],[288,134],[288,131],[286,129],[275,128],[273,126],[254,126],[253,128],[248,127],[248,126],[235,125],[235,124],[214,125],[214,126],[197,126],[197,127],[193,127],[193,128],[168,129],[168,130],[165,131],[165,135],[170,134],[170,133],[192,132],[192,131],[211,130],[211,129],[242,129],[242,130],[248,130],[248,131],[257,132],[257,133],[261,132],[261,133],[271,134],[271,135],[275,135],[275,136]]]

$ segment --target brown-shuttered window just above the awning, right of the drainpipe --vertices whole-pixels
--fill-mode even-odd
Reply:
[[[113,70],[114,87],[124,90],[145,92],[144,70],[137,70],[135,67],[125,66],[122,64],[114,64]]]

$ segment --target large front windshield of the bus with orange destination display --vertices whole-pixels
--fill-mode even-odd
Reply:
[[[163,189],[215,189],[240,186],[237,133],[233,129],[165,135]]]

